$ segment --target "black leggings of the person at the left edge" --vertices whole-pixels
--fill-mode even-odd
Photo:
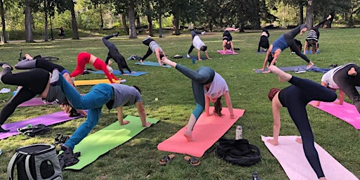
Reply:
[[[41,94],[46,89],[49,78],[49,72],[39,68],[18,72],[16,74],[13,74],[10,68],[4,68],[4,70],[0,72],[1,82],[23,87],[4,105],[0,113],[0,125],[4,124],[8,117],[13,114],[18,105]]]

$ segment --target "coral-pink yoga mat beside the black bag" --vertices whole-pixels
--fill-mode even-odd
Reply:
[[[210,107],[210,112],[214,110],[213,107]],[[205,151],[210,148],[214,143],[216,143],[221,136],[223,136],[226,131],[242,117],[245,110],[233,109],[236,119],[231,119],[229,115],[229,110],[223,108],[221,113],[224,113],[223,117],[219,116],[207,116],[205,113],[200,115],[198,122],[196,122],[193,129],[193,138],[195,141],[187,141],[184,134],[186,126],[176,132],[173,136],[169,137],[162,143],[158,144],[158,150],[173,152],[173,153],[183,153],[187,155],[192,155],[195,157],[202,157]],[[235,133],[235,130],[234,130]]]

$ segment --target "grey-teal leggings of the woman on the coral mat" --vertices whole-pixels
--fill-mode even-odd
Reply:
[[[177,64],[175,68],[176,70],[179,70],[179,72],[183,73],[186,77],[191,79],[193,95],[196,102],[196,107],[195,110],[193,110],[193,115],[195,116],[196,120],[198,120],[205,108],[204,85],[212,82],[215,72],[214,70],[206,66],[198,68],[196,72],[179,64]]]

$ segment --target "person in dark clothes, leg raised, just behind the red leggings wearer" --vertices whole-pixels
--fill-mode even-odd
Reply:
[[[114,37],[113,34],[108,35],[107,37],[103,37],[103,44],[108,48],[108,57],[106,57],[105,64],[109,63],[110,58],[113,58],[117,63],[117,68],[119,68],[120,72],[124,74],[123,68],[126,68],[131,72],[129,66],[127,66],[127,61],[125,60],[124,56],[122,56],[117,50],[117,47],[112,42],[108,41],[108,39]]]

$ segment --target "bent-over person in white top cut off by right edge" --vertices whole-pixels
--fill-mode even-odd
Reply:
[[[321,85],[333,89],[339,89],[339,101],[334,103],[342,105],[344,103],[344,93],[354,103],[356,110],[360,113],[360,94],[356,86],[360,86],[360,67],[354,63],[340,65],[326,72],[321,78]],[[315,103],[320,105],[320,101]]]

